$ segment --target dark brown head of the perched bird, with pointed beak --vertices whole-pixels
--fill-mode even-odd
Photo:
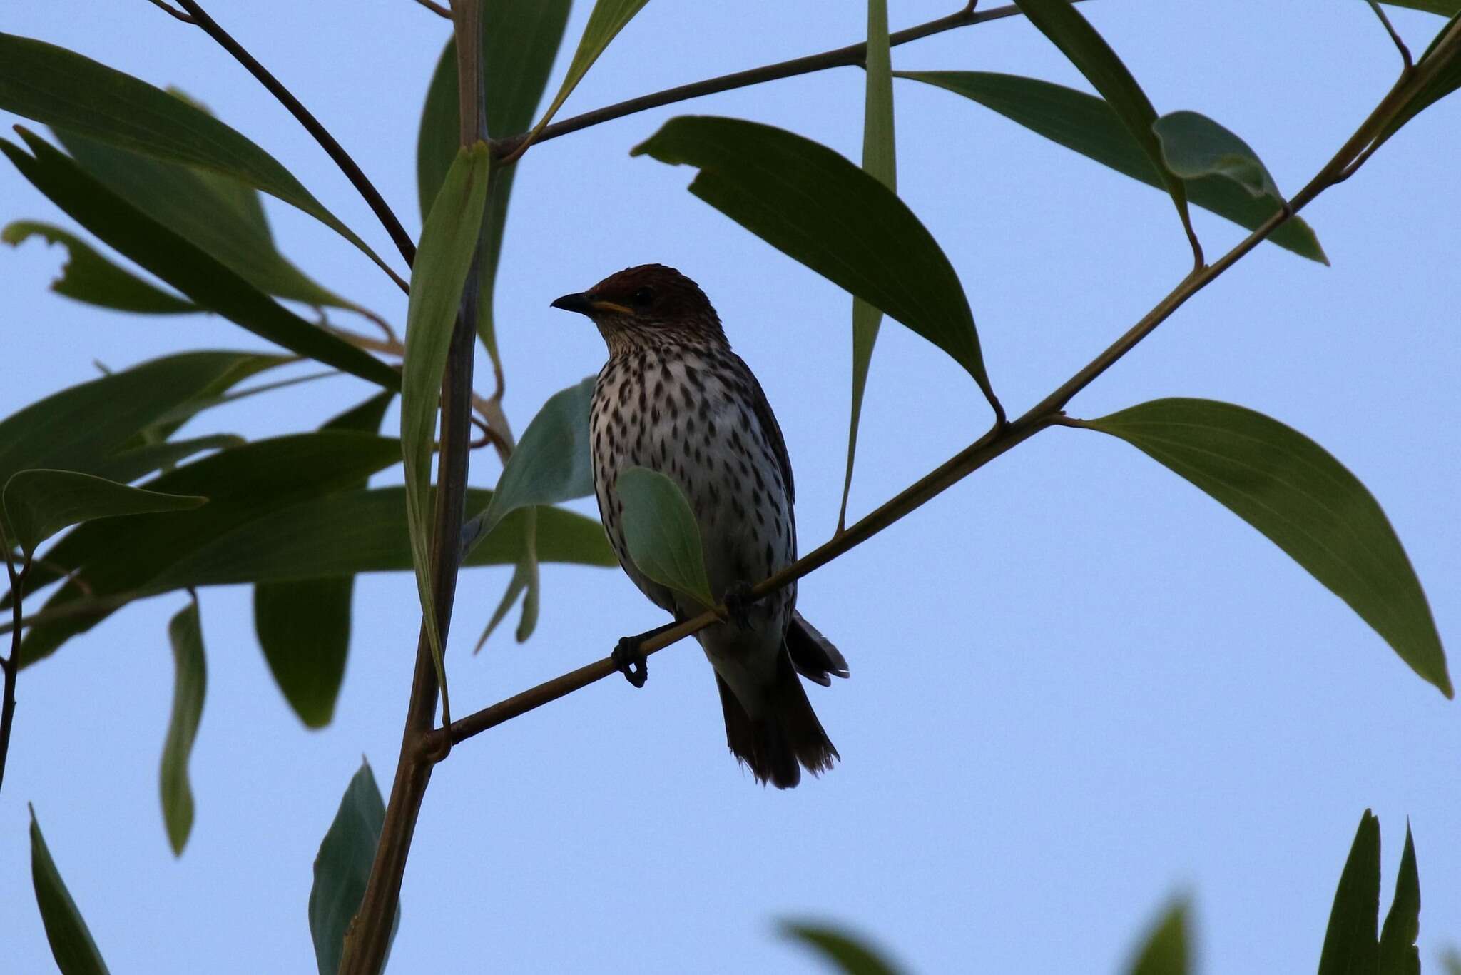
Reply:
[[[625,268],[587,291],[565,294],[552,307],[593,319],[611,357],[660,345],[726,348],[706,292],[665,265]]]

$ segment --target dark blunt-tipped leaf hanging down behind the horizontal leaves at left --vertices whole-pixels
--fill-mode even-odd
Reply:
[[[323,430],[375,433],[394,393],[377,393],[324,424]],[[355,488],[364,488],[365,479]],[[269,672],[307,728],[335,716],[351,648],[355,576],[301,579],[254,586],[254,633]]]

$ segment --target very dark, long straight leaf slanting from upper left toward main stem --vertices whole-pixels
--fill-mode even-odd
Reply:
[[[387,389],[399,384],[396,371],[375,357],[288,311],[225,265],[111,193],[50,143],[25,130],[20,134],[34,156],[3,140],[0,151],[38,190],[108,246],[197,304],[260,338]]]

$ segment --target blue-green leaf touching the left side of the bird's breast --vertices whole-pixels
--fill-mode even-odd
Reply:
[[[491,532],[520,507],[560,504],[593,494],[589,452],[593,383],[595,377],[589,376],[548,398],[507,459],[492,503],[463,526],[466,544]]]

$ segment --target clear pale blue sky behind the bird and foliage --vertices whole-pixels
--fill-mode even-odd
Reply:
[[[893,0],[894,28],[957,0]],[[590,4],[576,4],[567,51]],[[1242,134],[1294,193],[1391,83],[1398,58],[1359,0],[1153,3],[1081,10],[1161,113]],[[324,121],[419,229],[413,152],[449,25],[409,0],[215,0],[210,12]],[[1442,19],[1392,10],[1420,51]],[[200,31],[143,0],[9,3],[0,29],[82,51],[205,101],[300,175],[380,253],[351,186]],[[565,107],[863,37],[859,3],[655,0]],[[894,50],[899,69],[1005,70],[1086,88],[1008,19]],[[561,77],[560,57],[551,86]],[[497,307],[519,431],[605,358],[548,308],[608,272],[678,266],[720,311],[790,449],[802,547],[837,516],[849,398],[844,292],[684,190],[691,170],[628,149],[682,113],[783,126],[856,159],[862,73],[774,82],[562,137],[514,186]],[[955,95],[899,82],[899,189],[970,295],[1012,414],[1125,330],[1186,272],[1170,202]],[[13,121],[3,117],[9,124]],[[1305,216],[1332,268],[1262,246],[1071,403],[1078,417],[1159,396],[1242,403],[1309,434],[1375,493],[1461,636],[1454,421],[1461,370],[1461,101],[1427,110]],[[335,234],[267,200],[285,253],[397,325],[405,298]],[[67,224],[9,165],[0,219]],[[1210,257],[1242,232],[1198,210]],[[61,251],[0,251],[0,414],[186,348],[263,348],[213,317],[143,319],[47,291]],[[485,387],[485,383],[482,383]],[[314,427],[370,389],[310,383],[206,414],[190,431]],[[387,425],[394,422],[394,412]],[[853,513],[988,422],[955,364],[885,325],[863,414]],[[472,479],[491,485],[489,452]],[[399,468],[377,482],[399,479]],[[576,507],[592,512],[592,500]],[[450,648],[460,710],[605,655],[662,621],[618,570],[543,569],[542,621],[470,646],[508,569],[468,572]],[[20,675],[0,795],[4,968],[51,966],[34,908],[26,807],[114,972],[314,971],[311,862],[365,754],[387,785],[415,652],[405,573],[356,585],[335,724],[310,732],[273,686],[245,588],[205,589],[209,694],[193,753],[197,819],[174,860],[158,803],[184,596],[134,605]],[[1422,959],[1461,943],[1461,710],[1346,605],[1226,509],[1135,449],[1052,430],[817,572],[801,608],[852,678],[811,697],[843,756],[790,792],[725,750],[693,645],[636,691],[602,681],[479,737],[432,778],[412,851],[394,972],[811,972],[780,917],[866,933],[910,971],[1118,971],[1178,893],[1201,969],[1318,963],[1360,813],[1384,830],[1388,908],[1405,817],[1423,893]],[[1452,674],[1458,662],[1452,659]]]

